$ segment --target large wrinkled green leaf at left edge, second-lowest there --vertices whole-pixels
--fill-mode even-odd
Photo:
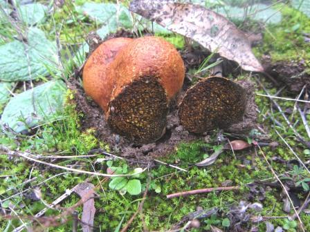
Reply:
[[[28,81],[56,73],[55,43],[38,28],[29,28],[27,42],[12,41],[0,46],[0,80]]]

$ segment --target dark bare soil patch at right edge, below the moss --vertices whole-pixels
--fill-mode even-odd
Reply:
[[[310,86],[310,74],[304,61],[280,61],[271,64],[268,57],[264,59],[266,72],[276,81],[285,84],[293,93],[300,93],[302,88]]]

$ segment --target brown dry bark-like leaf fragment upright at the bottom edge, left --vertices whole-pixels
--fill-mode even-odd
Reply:
[[[95,216],[95,202],[93,200],[93,197],[95,197],[94,188],[95,186],[93,186],[93,184],[84,182],[79,184],[77,189],[75,189],[75,193],[78,193],[83,201],[83,213],[81,218],[83,232],[93,231],[93,218]]]

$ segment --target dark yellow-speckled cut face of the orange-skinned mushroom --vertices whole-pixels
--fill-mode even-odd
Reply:
[[[147,144],[163,135],[167,113],[167,95],[156,77],[140,77],[109,103],[108,124],[137,144]]]

